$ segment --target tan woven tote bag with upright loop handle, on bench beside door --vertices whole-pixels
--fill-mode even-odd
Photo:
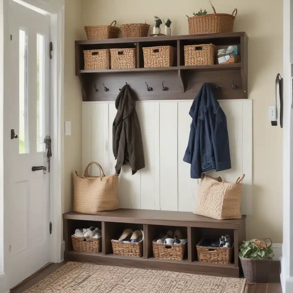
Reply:
[[[88,168],[96,164],[101,176],[88,176]],[[74,183],[74,212],[83,214],[97,214],[102,211],[112,211],[118,208],[118,176],[105,175],[102,167],[97,162],[86,166],[84,176],[72,172]]]

